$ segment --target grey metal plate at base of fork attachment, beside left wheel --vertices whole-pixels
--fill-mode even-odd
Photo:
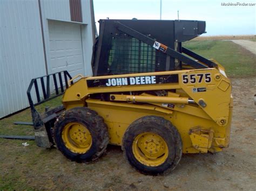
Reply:
[[[44,125],[40,126],[38,129],[34,131],[37,146],[44,148],[50,148],[52,146]]]

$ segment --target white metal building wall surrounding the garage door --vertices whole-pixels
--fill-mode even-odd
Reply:
[[[42,24],[48,73],[48,19],[71,22],[69,0],[0,1],[0,118],[29,107],[26,89],[34,77],[46,75]],[[93,45],[90,0],[82,0],[82,41],[85,71],[91,75]]]

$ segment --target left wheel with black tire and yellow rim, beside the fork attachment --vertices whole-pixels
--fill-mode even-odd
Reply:
[[[55,122],[53,136],[58,150],[77,162],[98,159],[109,144],[103,118],[85,107],[65,111]]]

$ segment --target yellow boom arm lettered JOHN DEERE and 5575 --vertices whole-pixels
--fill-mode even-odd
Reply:
[[[111,94],[110,101],[117,101],[112,94],[152,90],[183,90],[186,97],[180,98],[180,102],[166,96],[152,97],[149,102],[152,102],[153,99],[158,103],[187,102],[187,104],[191,104],[195,102],[215,123],[219,125],[228,123],[231,84],[230,80],[216,68],[83,77],[66,90],[63,104],[66,109],[70,109],[76,105],[84,105],[86,99],[93,94]],[[120,97],[122,96],[119,96],[118,101],[146,102],[146,97],[143,99],[143,96],[134,97],[136,100],[131,99],[132,95]],[[170,101],[167,101],[168,99]],[[190,103],[188,99],[191,100]]]

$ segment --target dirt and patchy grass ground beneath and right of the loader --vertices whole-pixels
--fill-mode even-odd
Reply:
[[[230,147],[217,154],[184,154],[165,176],[136,172],[118,146],[91,164],[66,159],[33,142],[0,139],[0,189],[254,190],[256,181],[255,77],[231,79],[234,110]]]

